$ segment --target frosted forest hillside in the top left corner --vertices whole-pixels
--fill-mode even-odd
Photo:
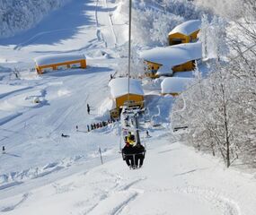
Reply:
[[[0,1],[0,38],[28,30],[48,13],[70,0],[8,0]]]

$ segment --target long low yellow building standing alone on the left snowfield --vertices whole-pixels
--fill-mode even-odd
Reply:
[[[86,58],[80,54],[56,54],[38,56],[34,59],[37,73],[46,73],[52,70],[69,68],[86,68]]]

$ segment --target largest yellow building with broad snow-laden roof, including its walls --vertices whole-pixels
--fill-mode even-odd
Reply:
[[[192,71],[195,61],[202,58],[200,42],[170,47],[155,47],[141,53],[146,64],[145,74],[151,78],[172,76],[172,73]]]

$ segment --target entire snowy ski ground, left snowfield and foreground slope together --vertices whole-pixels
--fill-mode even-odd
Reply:
[[[0,40],[0,214],[254,215],[255,173],[225,169],[172,136],[172,98],[152,84],[144,83],[152,124],[143,126],[152,137],[142,131],[143,168],[130,170],[121,159],[118,123],[87,132],[109,118],[110,74],[128,39],[116,8],[110,0],[74,0],[35,28]],[[89,66],[30,71],[34,57],[56,53],[84,54]]]

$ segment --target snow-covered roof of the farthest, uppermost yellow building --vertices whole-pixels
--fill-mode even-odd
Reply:
[[[183,22],[180,25],[176,26],[170,33],[174,34],[174,33],[181,33],[184,35],[190,35],[191,33],[200,30],[201,28],[201,21],[199,20],[190,20],[188,22]]]

